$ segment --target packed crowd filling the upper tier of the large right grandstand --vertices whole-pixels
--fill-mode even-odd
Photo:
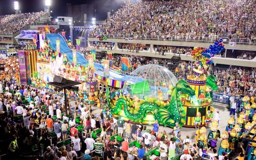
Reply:
[[[91,33],[254,39],[255,8],[250,0],[129,3]]]

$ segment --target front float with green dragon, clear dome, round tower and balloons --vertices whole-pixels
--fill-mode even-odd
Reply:
[[[207,49],[194,47],[191,53],[195,60],[194,75],[187,76],[187,80],[178,81],[171,71],[159,65],[137,68],[130,75],[144,81],[126,82],[123,89],[115,93],[107,91],[112,115],[149,125],[158,120],[159,124],[168,127],[176,123],[180,127],[194,127],[195,119],[199,119],[199,126],[205,125],[213,116],[212,90],[218,89],[216,77],[207,76],[208,67],[213,64],[214,55],[224,49],[222,39]]]

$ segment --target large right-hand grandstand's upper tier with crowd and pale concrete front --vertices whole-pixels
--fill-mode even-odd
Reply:
[[[150,45],[148,51],[136,53],[157,58],[176,55],[181,56],[181,60],[190,61],[189,49],[179,52],[172,48],[208,47],[223,38],[225,53],[215,57],[214,62],[255,67],[255,8],[256,3],[249,0],[126,3],[89,33],[88,49],[95,48],[95,45],[91,46],[95,41],[113,42],[112,53],[131,55],[133,52],[120,46],[126,46],[126,43],[130,43],[131,48],[136,47],[132,44]],[[98,36],[107,39],[99,40]],[[96,51],[104,51],[104,48],[99,47]]]

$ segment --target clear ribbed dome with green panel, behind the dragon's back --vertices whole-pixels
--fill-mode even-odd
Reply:
[[[126,95],[130,94],[132,98],[136,96],[140,98],[156,97],[157,99],[168,99],[168,87],[175,86],[177,78],[166,67],[157,64],[147,64],[135,69],[131,76],[144,79],[143,81],[135,81],[136,83],[128,83],[123,87]]]

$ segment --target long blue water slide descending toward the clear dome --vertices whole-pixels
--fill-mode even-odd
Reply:
[[[56,51],[56,40],[60,40],[60,53],[67,55],[67,59],[69,62],[73,62],[73,53],[71,49],[68,47],[68,44],[64,37],[61,34],[57,33],[51,33],[47,34],[46,38],[50,40],[51,48]],[[80,64],[82,66],[86,66],[88,64],[88,60],[82,55],[82,53],[77,51],[77,64]],[[102,64],[94,63],[95,73],[100,76],[104,76],[104,68]],[[113,79],[113,80],[119,80],[123,82],[128,82],[129,84],[135,84],[138,82],[144,82],[145,79],[135,77],[135,76],[128,76],[121,73],[117,73],[110,69],[109,75],[107,78]]]

